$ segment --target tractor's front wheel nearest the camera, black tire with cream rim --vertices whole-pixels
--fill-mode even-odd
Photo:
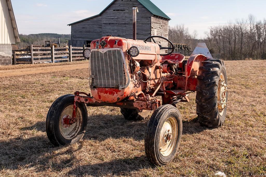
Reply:
[[[171,162],[180,146],[182,119],[172,105],[163,105],[151,116],[145,135],[145,153],[148,160],[158,166]]]

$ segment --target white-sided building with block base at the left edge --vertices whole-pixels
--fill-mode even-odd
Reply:
[[[12,64],[12,44],[20,42],[10,0],[0,0],[0,65]]]

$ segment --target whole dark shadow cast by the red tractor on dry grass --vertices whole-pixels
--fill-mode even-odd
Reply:
[[[97,139],[104,141],[107,138],[132,137],[136,141],[141,141],[145,137],[146,127],[149,119],[140,122],[124,120],[121,115],[97,114],[89,116],[86,139]],[[21,130],[38,130],[45,132],[45,122],[40,121]],[[194,134],[204,131],[197,119],[183,121],[183,135]],[[72,176],[102,176],[102,175],[129,175],[130,172],[139,171],[144,168],[153,168],[145,155],[132,158],[118,158],[108,162],[86,164],[76,166],[76,152],[86,149],[84,143],[77,143],[75,146],[55,147],[42,135],[12,138],[1,140],[2,147],[0,156],[0,166],[3,169],[17,170],[22,166],[36,168],[36,172],[49,171],[51,169],[61,171],[70,168],[68,175]],[[74,168],[73,168],[74,167]]]

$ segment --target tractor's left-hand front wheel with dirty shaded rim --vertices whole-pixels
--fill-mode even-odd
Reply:
[[[78,103],[77,121],[65,125],[63,119],[72,117],[74,95],[68,94],[53,102],[46,117],[46,134],[55,146],[73,144],[82,139],[87,127],[88,113],[85,104]]]

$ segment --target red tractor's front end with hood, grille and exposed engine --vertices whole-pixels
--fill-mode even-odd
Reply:
[[[145,97],[160,79],[158,44],[106,36],[91,43],[89,84],[99,102]]]

